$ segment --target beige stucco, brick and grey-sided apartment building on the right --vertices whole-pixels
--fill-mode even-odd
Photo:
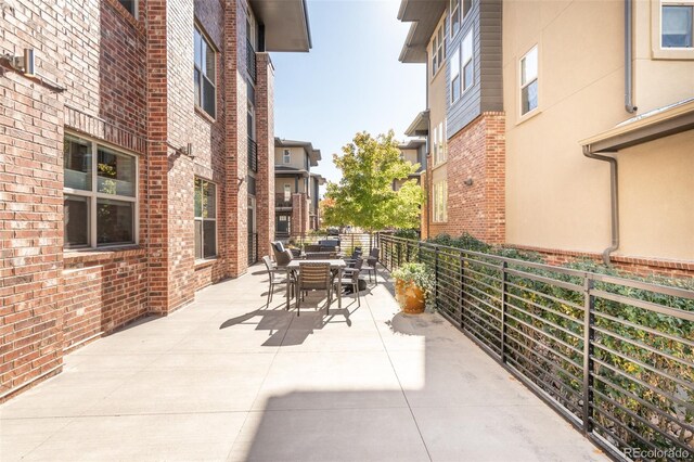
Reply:
[[[691,1],[409,1],[429,235],[694,272]]]

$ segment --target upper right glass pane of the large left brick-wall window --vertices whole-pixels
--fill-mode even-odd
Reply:
[[[97,191],[134,197],[137,158],[99,146]]]

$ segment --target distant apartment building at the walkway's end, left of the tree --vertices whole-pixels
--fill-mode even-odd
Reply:
[[[309,141],[274,140],[274,226],[277,239],[305,235],[319,227],[319,187],[325,179],[311,171],[321,151]]]

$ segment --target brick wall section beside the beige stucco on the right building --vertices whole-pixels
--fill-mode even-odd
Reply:
[[[448,221],[430,222],[430,235],[467,232],[489,243],[504,241],[504,124],[503,113],[484,113],[448,140]]]

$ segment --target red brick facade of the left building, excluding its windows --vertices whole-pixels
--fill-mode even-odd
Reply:
[[[261,252],[274,234],[273,69],[259,53],[249,84],[243,2],[140,0],[137,18],[117,0],[16,3],[0,54],[35,49],[43,81],[0,62],[0,401],[60,372],[65,352],[246,271],[247,85]],[[194,104],[195,24],[217,51],[214,118]],[[137,245],[64,249],[65,133],[137,157]],[[196,177],[217,189],[218,255],[202,264]]]

